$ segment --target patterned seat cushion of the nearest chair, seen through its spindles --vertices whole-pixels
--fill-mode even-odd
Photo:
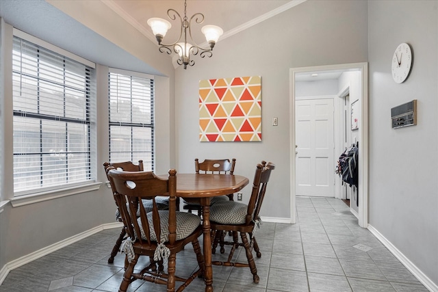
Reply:
[[[161,226],[160,239],[162,243],[165,243],[169,240],[169,211],[162,210],[158,211],[158,213]],[[147,217],[149,230],[151,232],[151,240],[157,241],[157,235],[155,235],[155,231],[153,230],[152,212],[147,213]],[[140,217],[137,219],[137,222],[141,228],[142,239],[146,239]],[[201,224],[201,218],[199,216],[187,212],[177,212],[177,240],[185,239],[185,237],[191,235],[199,224]]]

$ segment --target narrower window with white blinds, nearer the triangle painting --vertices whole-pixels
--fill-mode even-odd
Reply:
[[[110,161],[142,159],[144,170],[154,170],[153,96],[153,78],[110,70]]]

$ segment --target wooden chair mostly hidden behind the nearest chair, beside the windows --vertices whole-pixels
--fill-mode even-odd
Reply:
[[[144,170],[143,168],[143,161],[139,160],[138,164],[133,163],[132,161],[124,161],[124,162],[118,162],[118,163],[110,163],[105,162],[103,163],[103,168],[105,169],[105,174],[108,174],[108,170],[110,167],[114,167],[117,170],[124,170],[126,172],[142,172]],[[109,178],[108,178],[109,180]],[[111,185],[111,183],[110,183]],[[111,185],[112,193],[114,194],[114,187]],[[114,198],[114,202],[116,202],[116,198]],[[152,210],[151,202],[145,200],[143,201],[144,207],[146,207],[147,210]],[[178,200],[179,203],[179,200]],[[179,205],[179,204],[178,204]],[[166,210],[169,207],[168,198],[158,198],[157,199],[157,206],[159,209]],[[118,204],[116,202],[116,221],[123,222],[122,216],[120,215],[120,209],[118,207]],[[117,255],[117,252],[120,250],[120,245],[122,244],[123,239],[126,236],[126,230],[125,228],[122,228],[122,231],[120,231],[120,235],[118,236],[118,239],[116,240],[116,243],[114,244],[114,248],[112,248],[112,252],[110,254],[110,258],[108,258],[108,263],[114,263],[114,257]]]

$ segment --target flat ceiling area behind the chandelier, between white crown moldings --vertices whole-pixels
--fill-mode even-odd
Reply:
[[[203,44],[205,47],[205,38],[201,33],[201,27],[204,25],[218,25],[221,27],[224,30],[224,34],[219,39],[220,41],[289,8],[293,8],[303,1],[305,0],[189,0],[187,1],[186,15],[189,21],[196,13],[204,15],[205,18],[201,24],[196,23],[196,18],[193,18],[191,27],[194,42],[196,44]],[[167,11],[171,8],[177,11],[181,18],[183,18],[183,0],[107,0],[104,3],[153,42],[156,42],[155,36],[152,34],[151,27],[147,25],[148,19],[152,17],[164,18],[172,25],[164,37],[164,44],[174,43],[179,38],[181,21],[179,21],[178,16],[176,16],[176,20],[171,20]]]

